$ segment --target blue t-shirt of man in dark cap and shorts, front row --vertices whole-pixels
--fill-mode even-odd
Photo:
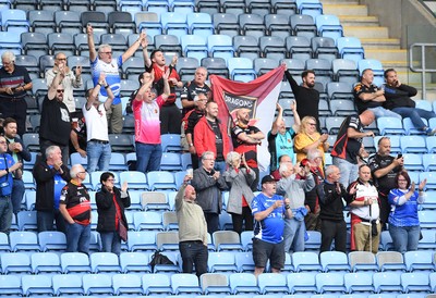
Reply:
[[[253,215],[257,212],[262,212],[271,207],[275,201],[283,200],[283,197],[274,195],[268,198],[264,194],[257,195],[252,201],[252,213]],[[283,228],[284,228],[284,204],[281,208],[276,208],[268,216],[262,221],[255,221],[254,224],[254,237],[261,240],[279,244],[283,240]]]

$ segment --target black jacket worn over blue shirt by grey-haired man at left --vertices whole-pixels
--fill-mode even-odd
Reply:
[[[62,179],[69,182],[71,179],[70,170],[62,164]],[[36,202],[37,211],[53,211],[55,207],[55,175],[58,171],[47,164],[46,159],[38,157],[32,171],[36,181]]]

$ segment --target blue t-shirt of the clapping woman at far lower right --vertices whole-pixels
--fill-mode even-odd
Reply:
[[[391,206],[389,214],[389,224],[395,226],[414,226],[420,225],[417,218],[417,198],[419,193],[415,191],[410,199],[403,204],[398,204],[400,197],[404,196],[409,190],[401,191],[398,188],[390,190],[388,200]]]

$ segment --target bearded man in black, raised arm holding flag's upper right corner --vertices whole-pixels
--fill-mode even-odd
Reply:
[[[284,67],[286,64],[282,64]],[[315,87],[315,72],[307,70],[301,74],[303,85],[299,85],[292,75],[286,70],[284,76],[291,85],[293,95],[296,101],[296,112],[300,117],[313,116],[318,123],[317,128],[319,131],[319,92],[314,89]]]

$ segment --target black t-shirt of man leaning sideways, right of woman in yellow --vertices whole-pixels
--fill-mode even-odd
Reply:
[[[344,159],[348,162],[356,164],[359,151],[362,146],[362,138],[349,138],[347,136],[348,128],[353,128],[356,132],[363,133],[363,125],[358,115],[348,116],[342,122],[334,145],[334,150],[331,151],[331,157]]]

